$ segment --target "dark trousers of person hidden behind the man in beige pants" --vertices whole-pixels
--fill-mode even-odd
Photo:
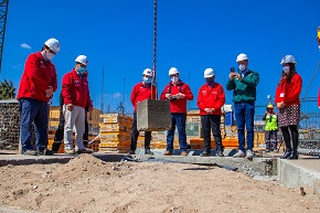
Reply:
[[[60,116],[58,116],[58,127],[54,134],[54,142],[52,143],[52,150],[54,152],[57,152],[60,149],[60,146],[63,142],[63,137],[64,137],[64,115],[62,113],[62,106],[60,109]],[[83,139],[84,139],[84,146],[87,147],[88,146],[88,135],[89,135],[89,125],[88,125],[88,120],[87,120],[87,113],[86,113],[86,119],[85,119],[85,132],[83,135]]]

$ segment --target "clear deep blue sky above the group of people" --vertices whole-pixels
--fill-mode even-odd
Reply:
[[[158,0],[159,95],[171,66],[190,84],[195,99],[206,67],[214,68],[216,82],[225,86],[230,67],[237,66],[236,56],[246,53],[249,68],[260,74],[257,105],[266,105],[268,94],[274,96],[286,54],[298,62],[305,97],[320,60],[318,25],[319,0]],[[152,66],[153,0],[10,0],[0,81],[11,79],[18,88],[25,58],[50,38],[61,42],[53,60],[58,76],[54,105],[62,76],[74,67],[77,55],[85,54],[95,107],[102,108],[104,67],[104,110],[115,109],[122,99],[130,110],[131,88]],[[317,96],[319,77],[320,72],[308,97]],[[227,104],[231,98],[226,90]]]

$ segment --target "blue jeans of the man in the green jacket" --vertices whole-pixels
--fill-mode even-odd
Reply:
[[[234,108],[239,150],[245,152],[245,127],[247,130],[247,150],[253,150],[255,103],[234,103]]]

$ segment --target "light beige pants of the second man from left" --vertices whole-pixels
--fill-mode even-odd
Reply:
[[[84,149],[83,135],[85,132],[85,108],[74,106],[70,111],[63,105],[64,111],[64,149],[73,148],[73,130],[75,130],[75,150]]]

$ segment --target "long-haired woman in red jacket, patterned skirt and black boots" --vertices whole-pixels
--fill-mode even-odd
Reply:
[[[276,89],[275,100],[279,108],[278,126],[286,142],[286,152],[281,159],[298,159],[299,96],[302,88],[302,78],[296,71],[296,63],[292,55],[286,55],[281,60],[282,74]]]

